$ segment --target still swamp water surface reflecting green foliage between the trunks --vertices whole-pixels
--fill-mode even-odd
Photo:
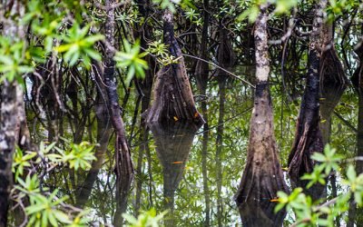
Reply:
[[[287,167],[299,99],[288,102],[280,92],[280,86],[273,85],[273,79],[271,84],[280,162],[282,167]],[[135,169],[131,190],[116,190],[114,135],[110,143],[96,149],[98,159],[89,171],[74,173],[64,168],[62,172],[49,173],[44,184],[70,195],[77,206],[90,209],[90,217],[96,226],[120,226],[122,212],[137,215],[152,208],[157,212],[168,211],[164,220],[166,226],[241,226],[233,196],[246,161],[252,92],[250,87],[231,77],[224,88],[212,79],[205,97],[194,91],[200,112],[201,102],[207,103],[207,113],[201,114],[208,115],[205,117],[208,127],[198,128],[174,119],[174,122],[152,124],[144,129],[140,117],[142,101],[132,88],[128,101],[121,101]],[[78,98],[83,105],[77,104],[77,114],[72,114],[75,107],[69,101],[66,106],[69,109],[64,113],[53,113],[48,122],[41,123],[29,111],[33,137],[38,141],[54,141],[62,136],[74,143],[100,143],[97,133],[102,125],[96,123],[94,106],[85,102],[83,91],[79,91]],[[351,125],[357,123],[357,109],[353,107],[356,103],[355,94],[348,89],[337,107]],[[208,133],[205,133],[206,129]],[[336,115],[332,118],[331,143],[338,153],[354,156],[355,133]],[[334,186],[338,192],[345,190],[338,184]],[[331,193],[329,183],[328,196]],[[249,226],[270,226],[282,220],[285,225],[294,222],[291,213],[276,216],[266,212],[271,211],[270,203],[262,203],[260,207],[246,205],[243,208],[248,216],[245,222],[250,223]]]

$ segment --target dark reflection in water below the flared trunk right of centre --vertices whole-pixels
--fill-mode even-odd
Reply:
[[[240,205],[240,217],[244,227],[280,227],[286,212],[274,212],[276,203],[270,201],[245,202]]]

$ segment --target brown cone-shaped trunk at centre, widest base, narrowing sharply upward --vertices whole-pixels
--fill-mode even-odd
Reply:
[[[169,45],[172,56],[179,60],[177,64],[164,65],[156,75],[147,122],[162,123],[174,119],[203,123],[191,94],[182,50],[174,37],[172,13],[166,10],[163,20],[164,43]]]

